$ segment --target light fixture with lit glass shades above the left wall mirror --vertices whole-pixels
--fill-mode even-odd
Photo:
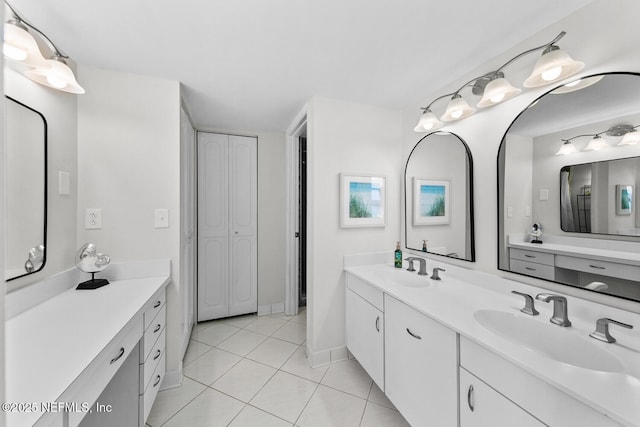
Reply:
[[[24,71],[24,75],[36,83],[64,92],[85,93],[65,61],[69,57],[64,55],[42,31],[25,21],[9,3],[5,1],[5,4],[13,14],[13,18],[4,24],[5,56],[27,66],[28,69]],[[33,33],[38,34],[53,51],[49,59],[45,59],[40,52]]]

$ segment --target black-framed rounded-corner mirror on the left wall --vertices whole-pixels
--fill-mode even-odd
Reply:
[[[47,122],[38,111],[5,101],[5,280],[13,280],[46,261]]]

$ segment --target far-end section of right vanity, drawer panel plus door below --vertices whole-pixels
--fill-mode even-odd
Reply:
[[[364,281],[347,278],[347,348],[384,391],[383,294]]]

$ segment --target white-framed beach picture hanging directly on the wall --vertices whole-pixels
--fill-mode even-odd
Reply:
[[[340,227],[384,227],[386,178],[340,174]]]

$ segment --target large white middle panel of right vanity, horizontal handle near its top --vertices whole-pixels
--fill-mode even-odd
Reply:
[[[457,334],[385,295],[385,394],[416,426],[458,424]]]

